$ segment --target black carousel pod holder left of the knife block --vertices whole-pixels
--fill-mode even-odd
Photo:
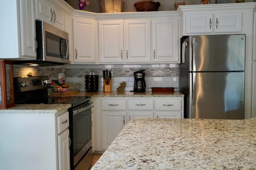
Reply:
[[[98,92],[99,90],[98,75],[85,75],[85,90],[87,92]]]

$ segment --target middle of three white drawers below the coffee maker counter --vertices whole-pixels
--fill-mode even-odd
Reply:
[[[129,110],[153,110],[154,100],[128,100]]]

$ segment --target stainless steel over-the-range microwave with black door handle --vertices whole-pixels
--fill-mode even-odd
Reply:
[[[36,61],[15,61],[14,64],[53,66],[68,64],[68,33],[46,22],[36,21]]]

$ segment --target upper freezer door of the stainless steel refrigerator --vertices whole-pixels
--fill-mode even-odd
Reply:
[[[190,36],[189,71],[244,71],[245,35]]]

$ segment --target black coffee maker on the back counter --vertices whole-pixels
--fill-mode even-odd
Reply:
[[[146,91],[146,82],[145,82],[145,70],[139,70],[134,72],[134,92],[145,92]]]

